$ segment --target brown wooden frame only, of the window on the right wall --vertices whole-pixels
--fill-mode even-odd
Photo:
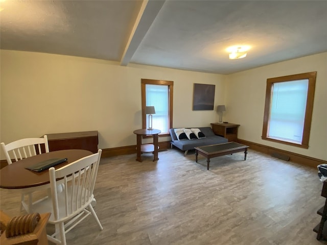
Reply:
[[[269,78],[267,79],[267,87],[266,87],[266,100],[265,100],[265,112],[264,112],[264,121],[263,121],[263,129],[262,129],[262,139],[270,140],[278,143],[294,145],[300,148],[309,148],[309,138],[310,138],[310,129],[311,129],[311,120],[312,120],[312,111],[313,111],[313,101],[314,101],[314,93],[315,93],[315,86],[316,86],[316,76],[317,71],[296,74],[296,75],[289,75],[284,77],[278,78]],[[269,124],[269,117],[270,117],[270,103],[271,103],[271,93],[272,93],[272,86],[274,83],[280,82],[291,82],[294,80],[301,80],[301,79],[308,79],[308,93],[307,93],[307,105],[306,105],[306,112],[305,112],[305,122],[302,132],[302,142],[300,144],[284,141],[281,139],[276,138],[269,138],[267,136],[268,133],[268,124]]]

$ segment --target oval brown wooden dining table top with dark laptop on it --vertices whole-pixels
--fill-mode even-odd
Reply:
[[[55,169],[58,169],[92,154],[92,152],[86,150],[61,150],[42,153],[40,155],[13,162],[12,164],[9,164],[0,169],[0,188],[23,189],[49,184],[50,178],[48,169],[38,173],[32,170],[28,170],[25,167],[53,158],[68,158],[66,162],[55,166]]]

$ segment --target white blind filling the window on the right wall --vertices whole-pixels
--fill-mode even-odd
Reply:
[[[273,84],[268,137],[301,143],[309,80]]]

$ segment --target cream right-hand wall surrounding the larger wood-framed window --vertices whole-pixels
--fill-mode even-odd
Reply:
[[[262,140],[267,78],[317,71],[309,149]],[[327,160],[327,53],[267,65],[228,76],[226,113],[240,124],[240,139]]]

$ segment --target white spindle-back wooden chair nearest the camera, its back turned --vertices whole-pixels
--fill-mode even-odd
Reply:
[[[91,203],[102,150],[69,163],[57,170],[49,169],[51,198],[33,205],[38,213],[51,212],[49,224],[55,225],[55,233],[48,240],[56,244],[66,244],[65,233],[73,229],[84,218],[92,214],[102,230],[100,220]],[[64,189],[57,191],[63,184]],[[85,226],[88,224],[85,223]]]

